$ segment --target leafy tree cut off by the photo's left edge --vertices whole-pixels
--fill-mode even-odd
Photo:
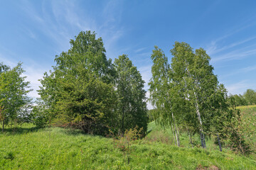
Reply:
[[[22,107],[31,102],[31,98],[27,96],[31,89],[28,86],[29,81],[25,81],[26,77],[21,76],[25,72],[21,68],[21,63],[13,69],[4,64],[0,67],[1,122],[4,132],[4,125],[16,120]]]

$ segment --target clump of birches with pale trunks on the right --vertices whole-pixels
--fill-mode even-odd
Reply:
[[[171,63],[157,46],[151,55],[149,92],[154,111],[150,118],[171,128],[177,146],[181,132],[187,132],[192,147],[192,137],[198,134],[203,148],[206,138],[215,137],[220,151],[226,144],[244,152],[245,142],[238,132],[240,111],[235,108],[235,98],[228,97],[213,74],[206,51],[175,42],[170,52]]]

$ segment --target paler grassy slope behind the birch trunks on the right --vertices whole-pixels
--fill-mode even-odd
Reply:
[[[239,106],[240,110],[241,124],[238,127],[238,132],[244,137],[245,143],[247,143],[247,152],[250,152],[250,157],[256,160],[256,105],[251,106]],[[155,122],[151,122],[148,125],[149,134],[146,136],[146,140],[152,142],[163,142],[171,145],[175,145],[175,137],[171,132],[171,128],[166,128],[165,130],[161,125],[156,125]],[[187,132],[181,133],[181,147],[191,148],[191,143],[189,142],[189,136]],[[193,145],[199,147],[200,137],[199,135],[194,135],[192,137]],[[212,135],[206,139],[206,144],[208,145],[207,150],[218,149],[218,145],[215,142],[215,136]],[[230,150],[229,145],[223,145],[223,150]]]

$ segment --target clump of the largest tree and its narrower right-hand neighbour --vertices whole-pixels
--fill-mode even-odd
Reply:
[[[53,71],[45,73],[35,107],[38,125],[50,124],[107,135],[144,128],[144,81],[127,55],[107,60],[102,38],[90,31],[70,40],[70,50],[55,56]],[[43,118],[42,118],[43,117]]]

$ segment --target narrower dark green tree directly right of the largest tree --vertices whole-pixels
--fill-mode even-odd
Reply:
[[[122,133],[129,128],[143,128],[146,132],[146,91],[142,75],[134,67],[127,55],[114,60],[117,73],[117,113],[119,128]]]

